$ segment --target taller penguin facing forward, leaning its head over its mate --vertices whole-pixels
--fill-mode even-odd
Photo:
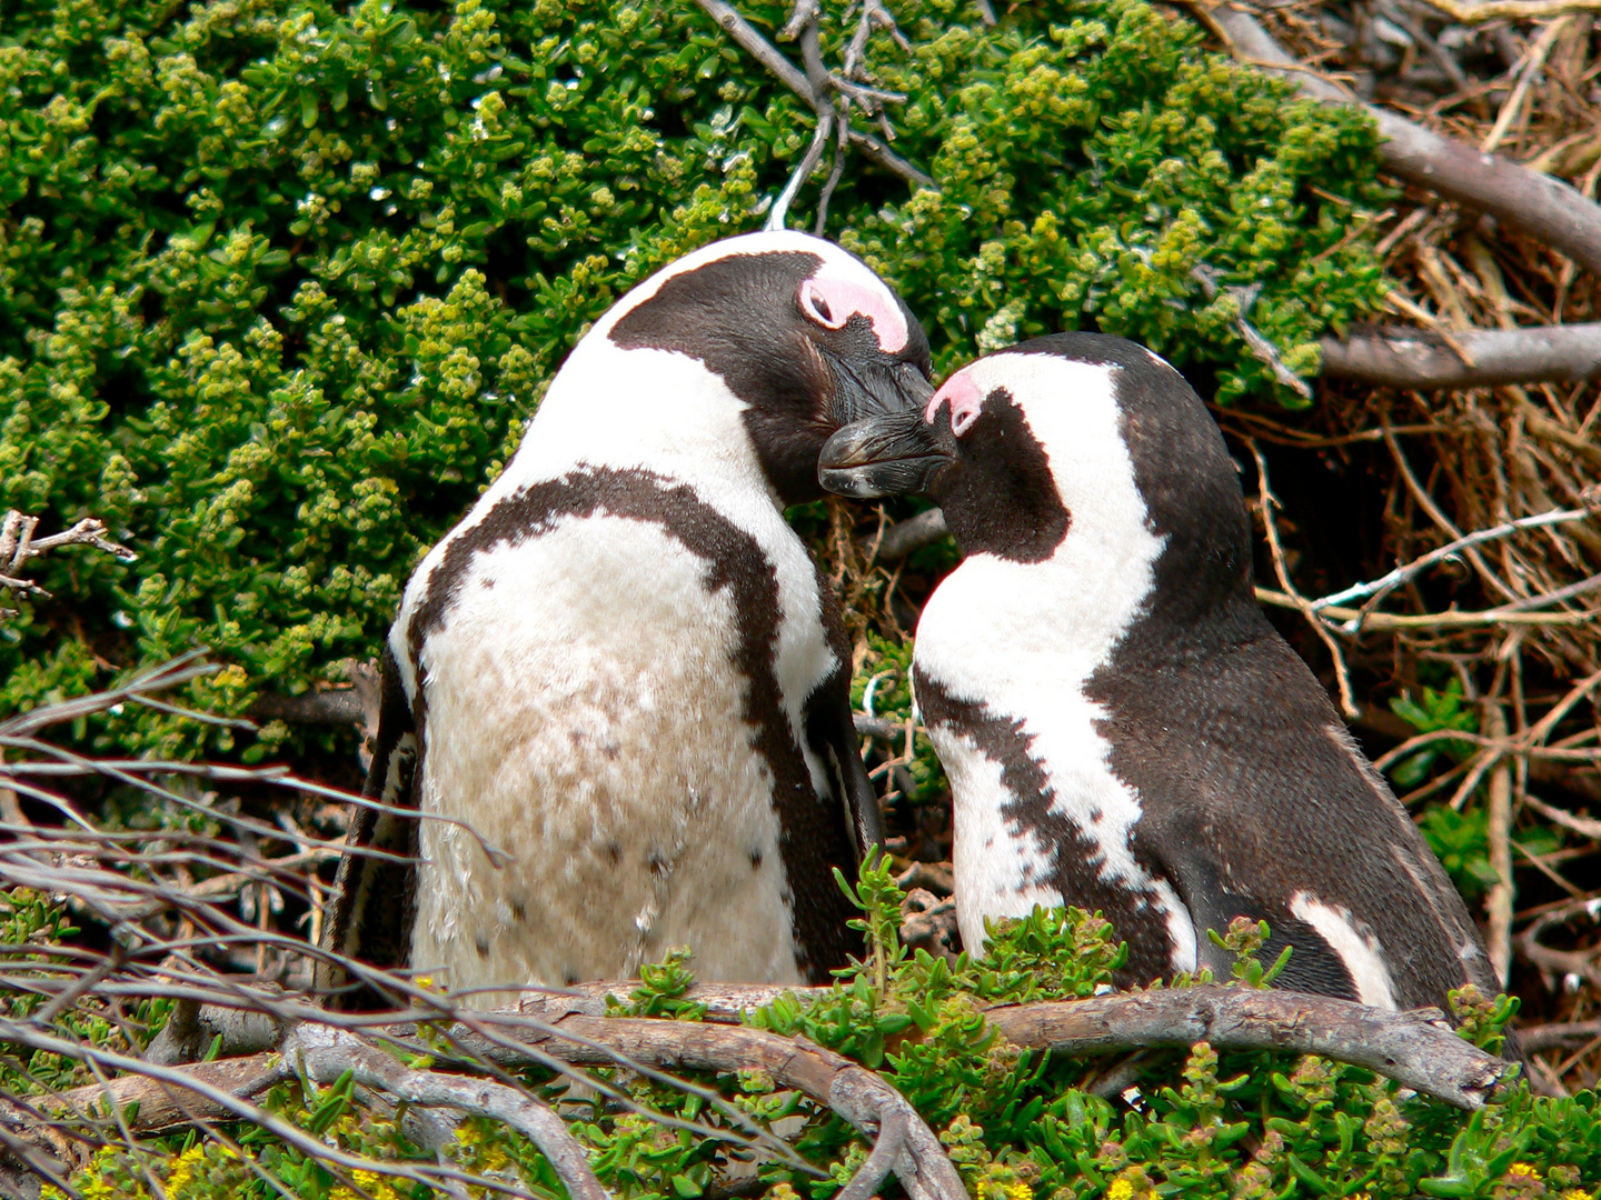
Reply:
[[[421,819],[359,813],[325,946],[480,1005],[676,946],[703,979],[844,966],[831,870],[879,818],[784,506],[837,427],[932,392],[906,306],[802,234],[704,246],[596,322],[407,586],[367,795]]]

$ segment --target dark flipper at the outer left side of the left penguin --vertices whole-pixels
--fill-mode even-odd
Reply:
[[[403,966],[416,912],[416,808],[411,781],[419,730],[411,715],[400,670],[386,650],[378,738],[362,795],[384,808],[360,806],[351,818],[344,858],[335,877],[323,926],[322,949],[339,958],[357,958],[378,968]],[[330,1006],[352,1006],[349,971],[323,960],[317,987]]]

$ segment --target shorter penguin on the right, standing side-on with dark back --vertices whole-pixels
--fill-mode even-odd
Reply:
[[[1209,966],[1266,918],[1279,986],[1378,1008],[1495,986],[1467,909],[1252,594],[1250,522],[1199,397],[1134,342],[1037,338],[924,418],[847,427],[825,483],[922,491],[964,562],[913,678],[954,794],[962,939],[1034,904],[1100,909],[1124,982]]]

